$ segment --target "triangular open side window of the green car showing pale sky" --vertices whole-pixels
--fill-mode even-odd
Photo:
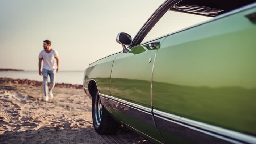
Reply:
[[[148,32],[142,43],[212,18],[213,17],[167,11],[150,32]]]

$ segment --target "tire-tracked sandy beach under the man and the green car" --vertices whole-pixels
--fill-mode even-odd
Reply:
[[[59,85],[43,102],[42,86],[1,80],[0,144],[151,144],[124,127],[115,135],[97,134],[91,99],[79,86]]]

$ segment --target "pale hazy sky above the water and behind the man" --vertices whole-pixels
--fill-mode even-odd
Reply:
[[[60,71],[84,70],[89,63],[121,51],[122,46],[116,42],[117,33],[135,36],[163,2],[0,0],[0,68],[38,70],[43,40],[49,39],[51,48],[58,51]],[[181,23],[173,23],[173,18]],[[185,22],[186,19],[191,21]],[[161,23],[170,23],[169,29],[162,32],[167,34],[196,24],[195,19],[209,18],[172,12],[160,19]]]

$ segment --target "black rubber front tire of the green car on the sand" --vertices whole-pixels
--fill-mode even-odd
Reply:
[[[102,105],[101,114],[98,114],[98,101],[100,96],[98,95],[97,88],[94,89],[94,95],[92,96],[92,120],[93,127],[98,134],[114,134],[118,130],[120,124],[114,120],[108,113],[108,111]],[[98,120],[100,117],[100,121]]]

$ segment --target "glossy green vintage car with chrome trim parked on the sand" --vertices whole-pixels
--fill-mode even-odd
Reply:
[[[210,19],[168,33],[169,17],[151,33],[170,11]],[[116,41],[123,50],[84,73],[99,134],[123,125],[160,144],[256,144],[255,0],[167,0]]]

